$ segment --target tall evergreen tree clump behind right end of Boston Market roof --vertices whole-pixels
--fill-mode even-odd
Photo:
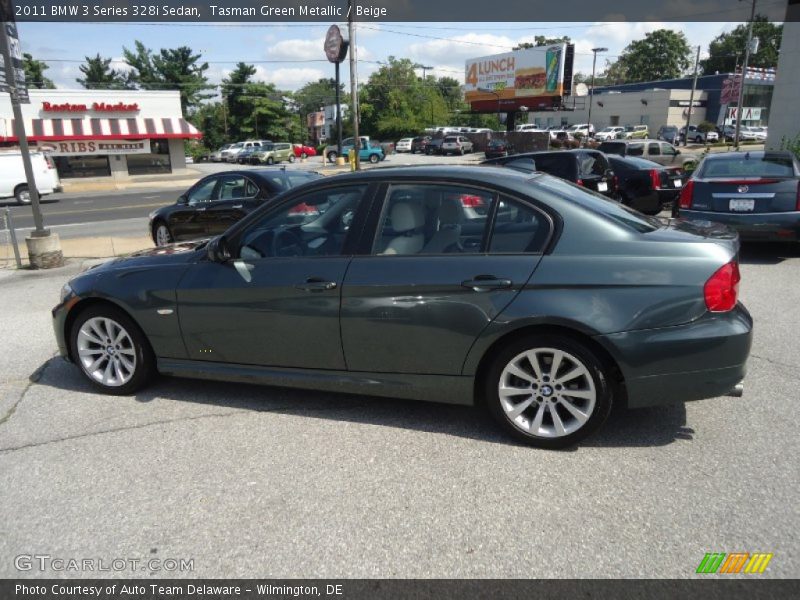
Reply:
[[[158,54],[136,41],[135,50],[123,48],[125,62],[133,69],[131,83],[145,90],[179,90],[181,108],[184,113],[213,96],[206,90],[209,85],[205,76],[208,63],[199,63],[201,55],[193,54],[187,46],[164,49]]]

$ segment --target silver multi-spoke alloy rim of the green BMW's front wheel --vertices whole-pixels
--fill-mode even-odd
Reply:
[[[97,383],[106,387],[120,387],[136,373],[133,339],[113,319],[87,319],[78,330],[76,342],[81,368]]]

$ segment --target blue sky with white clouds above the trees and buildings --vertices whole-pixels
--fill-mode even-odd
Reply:
[[[464,60],[504,52],[511,46],[532,41],[535,35],[570,36],[576,43],[576,71],[591,72],[593,47],[609,51],[598,58],[614,59],[623,48],[648,31],[669,28],[683,31],[692,46],[708,43],[737,23],[362,23],[359,46],[359,79],[366,80],[388,56],[407,57],[434,67],[437,76],[463,81]],[[219,83],[237,61],[254,63],[256,77],[294,90],[308,81],[332,77],[333,65],[324,60],[322,41],[328,24],[285,23],[20,23],[25,52],[50,66],[47,76],[58,87],[80,88],[75,78],[85,56],[121,60],[122,47],[133,48],[135,40],[155,50],[189,46],[210,63],[212,83]],[[344,27],[344,25],[342,25]],[[263,61],[263,62],[259,62]],[[272,61],[272,62],[267,62]],[[303,61],[303,62],[281,62]],[[120,62],[113,65],[124,67]],[[347,68],[342,78],[349,79]]]

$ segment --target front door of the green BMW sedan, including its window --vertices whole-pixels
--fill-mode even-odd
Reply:
[[[340,296],[367,192],[329,185],[265,207],[232,232],[230,260],[192,265],[177,289],[189,357],[344,369]]]

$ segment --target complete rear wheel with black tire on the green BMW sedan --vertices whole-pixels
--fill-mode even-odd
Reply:
[[[536,357],[539,377],[531,356]],[[556,356],[561,358],[554,377],[549,370]],[[501,384],[522,393],[501,397]],[[546,449],[565,448],[592,434],[605,422],[612,404],[608,367],[580,342],[558,335],[527,336],[503,348],[488,370],[484,394],[487,409],[508,434]]]

